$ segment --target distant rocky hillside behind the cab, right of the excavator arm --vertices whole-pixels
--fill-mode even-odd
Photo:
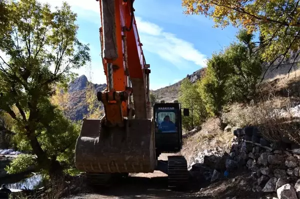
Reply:
[[[201,68],[190,75],[186,75],[186,78],[189,79],[190,82],[194,83],[204,76],[205,70],[206,68]],[[157,101],[164,100],[165,102],[173,102],[174,100],[178,99],[179,88],[182,80],[170,86],[166,86],[151,92],[156,95]]]

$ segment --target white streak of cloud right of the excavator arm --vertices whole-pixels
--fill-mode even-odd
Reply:
[[[186,61],[201,67],[206,66],[206,55],[195,49],[192,43],[165,32],[158,25],[144,21],[140,17],[135,17],[135,20],[145,50],[156,53],[178,68],[188,66]]]

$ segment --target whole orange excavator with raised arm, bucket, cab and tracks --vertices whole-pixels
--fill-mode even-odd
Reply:
[[[96,93],[104,105],[100,119],[83,119],[75,148],[76,168],[85,172],[91,185],[107,185],[113,177],[129,173],[168,175],[168,186],[188,180],[182,147],[181,105],[149,101],[149,64],[144,59],[134,18],[134,0],[99,2],[100,44],[107,88]],[[151,111],[153,110],[153,116]],[[183,109],[183,116],[189,110]]]

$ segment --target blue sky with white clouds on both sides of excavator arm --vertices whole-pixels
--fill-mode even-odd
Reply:
[[[60,0],[48,1],[61,5]],[[77,13],[78,38],[90,44],[92,58],[88,67],[76,72],[93,83],[106,83],[101,64],[99,6],[96,0],[66,0]],[[235,39],[237,29],[214,28],[212,19],[203,15],[185,15],[181,0],[135,0],[135,18],[145,60],[150,64],[150,89],[173,84],[205,67],[206,58]]]

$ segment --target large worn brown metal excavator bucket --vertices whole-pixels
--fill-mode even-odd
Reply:
[[[84,119],[75,148],[75,165],[87,173],[152,173],[156,165],[153,121],[125,119],[124,127],[105,127]]]

